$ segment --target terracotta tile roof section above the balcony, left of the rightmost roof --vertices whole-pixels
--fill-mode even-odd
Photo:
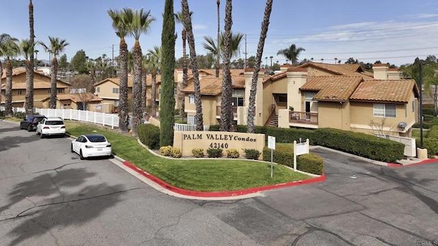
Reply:
[[[318,91],[315,100],[346,101],[361,81],[361,77],[309,77],[300,90]]]

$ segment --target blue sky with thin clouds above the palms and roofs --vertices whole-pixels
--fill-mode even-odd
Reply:
[[[196,53],[205,54],[203,36],[216,37],[216,0],[189,0],[194,26]],[[225,0],[220,1],[221,30],[224,28]],[[144,8],[151,10],[156,21],[151,31],[140,38],[143,53],[161,43],[162,12],[164,0],[34,0],[34,28],[37,40],[49,42],[48,36],[66,39],[68,60],[77,51],[86,51],[89,57],[103,54],[118,55],[119,39],[112,29],[107,10]],[[1,33],[18,39],[29,38],[29,1],[3,1],[1,4]],[[234,0],[233,31],[246,33],[248,56],[255,55],[265,0]],[[175,1],[175,12],[181,10],[181,2]],[[8,20],[8,21],[6,21]],[[175,57],[182,57],[181,25]],[[285,63],[277,56],[280,49],[296,44],[306,49],[299,59],[334,63],[335,57],[342,63],[348,57],[374,63],[380,60],[400,66],[413,63],[415,57],[438,56],[438,1],[436,0],[274,0],[268,38],[263,57],[274,56],[273,62]],[[129,49],[133,39],[127,38]],[[49,59],[42,47],[38,47],[38,59]],[[244,44],[240,57],[244,58]],[[263,58],[263,64],[266,59]],[[263,65],[262,64],[262,65]],[[270,59],[268,59],[270,64]]]

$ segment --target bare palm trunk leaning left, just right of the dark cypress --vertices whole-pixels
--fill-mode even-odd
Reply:
[[[196,107],[196,131],[203,131],[203,106],[201,100],[201,86],[199,85],[198,60],[194,45],[194,35],[192,28],[192,18],[190,17],[189,4],[187,0],[181,0],[182,11],[184,14],[184,27],[187,29],[187,41],[190,49],[190,60],[192,61],[194,104]]]

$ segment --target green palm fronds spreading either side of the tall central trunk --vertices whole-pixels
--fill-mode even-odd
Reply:
[[[233,57],[237,57],[240,53],[240,42],[242,42],[242,38],[244,37],[243,33],[233,33],[231,32],[231,43],[230,43],[230,59]],[[219,45],[214,42],[214,39],[210,36],[204,36],[205,42],[203,42],[203,47],[209,53],[213,55],[220,56],[221,59],[224,59],[224,33],[220,33],[219,36]]]

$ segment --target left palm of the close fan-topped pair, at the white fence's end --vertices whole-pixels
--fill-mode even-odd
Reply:
[[[108,15],[112,19],[112,27],[116,31],[116,35],[120,38],[118,66],[120,74],[119,85],[119,102],[118,102],[118,131],[126,133],[129,127],[128,115],[128,45],[125,41],[127,36],[127,25],[124,12],[118,10],[107,10]]]

